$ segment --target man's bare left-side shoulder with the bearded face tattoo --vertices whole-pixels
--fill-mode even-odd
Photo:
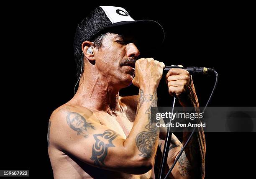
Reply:
[[[100,124],[94,113],[85,107],[62,105],[51,114],[48,128],[50,146],[64,148],[72,136],[87,137],[87,130]]]

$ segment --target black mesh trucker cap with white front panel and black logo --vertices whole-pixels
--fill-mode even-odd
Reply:
[[[74,39],[75,56],[82,55],[82,43],[92,41],[104,31],[120,31],[135,35],[141,44],[150,41],[161,44],[164,41],[164,29],[154,20],[134,20],[120,7],[100,6],[84,18],[77,26]]]

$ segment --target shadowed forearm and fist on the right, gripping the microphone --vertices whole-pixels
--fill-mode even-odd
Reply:
[[[179,103],[184,107],[198,109],[198,99],[192,77],[183,69],[171,69],[166,74],[169,94],[177,96]],[[187,111],[184,109],[184,111]],[[202,128],[197,128],[184,152],[174,166],[174,178],[204,178],[205,165],[205,136]],[[187,142],[190,132],[183,132],[182,146]],[[176,156],[177,158],[177,156]]]

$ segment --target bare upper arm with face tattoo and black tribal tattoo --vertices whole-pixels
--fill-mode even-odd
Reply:
[[[133,152],[123,146],[125,139],[115,130],[96,122],[94,115],[86,117],[74,112],[65,115],[56,126],[51,123],[56,129],[52,134],[54,143],[64,153],[102,169],[126,172],[134,169]]]

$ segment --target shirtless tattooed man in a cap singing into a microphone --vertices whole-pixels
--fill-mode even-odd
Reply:
[[[95,12],[97,17],[105,13],[111,18],[115,12],[128,17],[118,7],[99,7]],[[95,18],[94,13],[82,24]],[[115,17],[111,19],[115,23]],[[79,25],[75,41],[81,38],[82,27],[88,26]],[[48,152],[54,178],[154,178],[156,151],[158,146],[161,150],[164,147],[164,140],[159,138],[164,139],[165,134],[159,132],[163,130],[156,127],[150,115],[151,107],[157,106],[156,90],[164,64],[152,58],[137,59],[140,55],[137,41],[127,32],[84,36],[79,39],[81,43],[74,43],[76,56],[83,59],[79,88],[69,102],[54,110],[49,120]],[[187,71],[170,70],[166,82],[169,94],[176,95],[182,106],[198,106]],[[119,90],[131,83],[139,88],[139,94],[120,97]],[[172,135],[166,169],[173,164],[189,134],[184,132],[182,143]],[[170,177],[204,178],[204,159],[205,139],[200,130],[192,137]]]

